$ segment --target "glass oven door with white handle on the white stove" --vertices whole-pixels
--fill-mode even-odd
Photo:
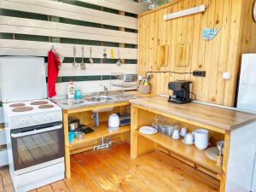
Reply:
[[[11,131],[15,171],[64,157],[62,122]]]

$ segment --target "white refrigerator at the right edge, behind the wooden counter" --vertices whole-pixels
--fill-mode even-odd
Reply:
[[[237,108],[256,113],[256,54],[242,55]],[[251,191],[256,192],[256,157]]]

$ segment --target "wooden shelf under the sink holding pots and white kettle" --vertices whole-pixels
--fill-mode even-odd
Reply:
[[[91,127],[94,129],[93,132],[86,134],[84,139],[78,140],[74,139],[73,143],[69,144],[69,148],[72,149],[75,145],[83,144],[83,143],[89,143],[92,141],[95,141],[101,137],[108,137],[108,136],[113,136],[117,135],[119,133],[125,133],[128,131],[131,131],[131,125],[125,125],[125,126],[120,126],[119,130],[109,132],[108,131],[108,122],[101,123],[99,127]]]

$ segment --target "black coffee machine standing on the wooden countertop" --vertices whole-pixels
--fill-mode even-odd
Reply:
[[[169,96],[168,102],[173,102],[176,104],[191,102],[191,91],[192,91],[191,81],[169,82],[168,88],[169,90],[173,90],[173,95]]]

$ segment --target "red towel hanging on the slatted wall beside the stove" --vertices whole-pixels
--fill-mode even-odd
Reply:
[[[50,50],[48,52],[48,97],[56,96],[55,83],[59,73],[59,66],[61,66],[61,61],[55,55],[55,53]]]

